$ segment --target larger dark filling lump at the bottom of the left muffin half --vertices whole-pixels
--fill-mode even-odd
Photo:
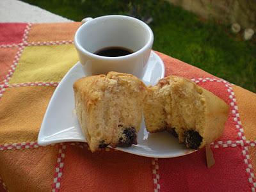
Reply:
[[[118,147],[131,147],[137,144],[137,135],[134,127],[125,128],[122,137],[119,138]]]

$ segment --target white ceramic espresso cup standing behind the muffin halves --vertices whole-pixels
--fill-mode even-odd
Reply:
[[[125,72],[141,78],[147,65],[154,35],[145,22],[124,15],[87,19],[76,31],[74,42],[86,76]],[[100,56],[109,47],[132,51],[124,56]]]

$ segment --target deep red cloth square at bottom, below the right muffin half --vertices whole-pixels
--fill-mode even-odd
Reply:
[[[213,149],[216,163],[207,168],[205,150],[159,159],[161,191],[251,191],[242,149]]]

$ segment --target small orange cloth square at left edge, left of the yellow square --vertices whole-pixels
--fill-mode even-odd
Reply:
[[[0,84],[8,74],[8,70],[10,70],[18,50],[19,48],[17,47],[0,48]]]

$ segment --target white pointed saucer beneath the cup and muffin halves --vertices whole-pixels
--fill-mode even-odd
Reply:
[[[61,80],[47,107],[38,135],[39,145],[86,141],[74,113],[74,92],[72,88],[74,82],[83,76],[83,68],[78,62]],[[164,63],[156,53],[151,52],[143,81],[146,84],[156,84],[163,77]],[[138,133],[138,145],[132,145],[129,148],[117,147],[116,149],[138,156],[159,158],[184,156],[195,151],[180,145],[177,139],[167,132],[148,134],[144,122],[142,122]]]

